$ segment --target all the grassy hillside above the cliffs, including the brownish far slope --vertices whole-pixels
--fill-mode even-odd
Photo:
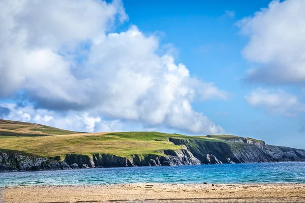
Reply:
[[[169,138],[226,142],[225,136],[190,137],[161,132],[78,133],[33,123],[0,120],[0,148],[41,156],[105,153],[128,157],[131,154],[159,154],[180,146]]]

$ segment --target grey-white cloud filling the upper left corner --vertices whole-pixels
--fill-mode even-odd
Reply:
[[[1,1],[0,96],[24,88],[38,97],[75,100],[67,93],[79,89],[72,88],[77,80],[71,57],[78,46],[104,35],[118,14],[126,19],[122,7],[119,1]]]

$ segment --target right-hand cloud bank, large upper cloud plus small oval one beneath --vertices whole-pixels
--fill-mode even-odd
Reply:
[[[280,89],[305,85],[304,9],[302,0],[274,0],[237,22],[240,33],[249,38],[242,55],[253,66],[245,80],[267,86],[253,89],[245,99],[269,114],[291,117],[305,110],[298,96]]]

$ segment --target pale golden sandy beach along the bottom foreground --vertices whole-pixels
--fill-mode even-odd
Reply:
[[[5,203],[305,202],[305,184],[118,184],[2,188]]]

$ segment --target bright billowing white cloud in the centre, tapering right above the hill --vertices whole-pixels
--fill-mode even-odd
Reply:
[[[90,79],[97,84],[103,81],[99,86],[106,90],[100,95],[99,110],[149,125],[165,124],[196,133],[224,132],[189,103],[195,94],[202,99],[225,99],[228,93],[213,83],[191,78],[187,67],[175,64],[172,56],[156,55],[158,43],[155,36],[146,37],[133,26],[93,45],[87,61]]]

